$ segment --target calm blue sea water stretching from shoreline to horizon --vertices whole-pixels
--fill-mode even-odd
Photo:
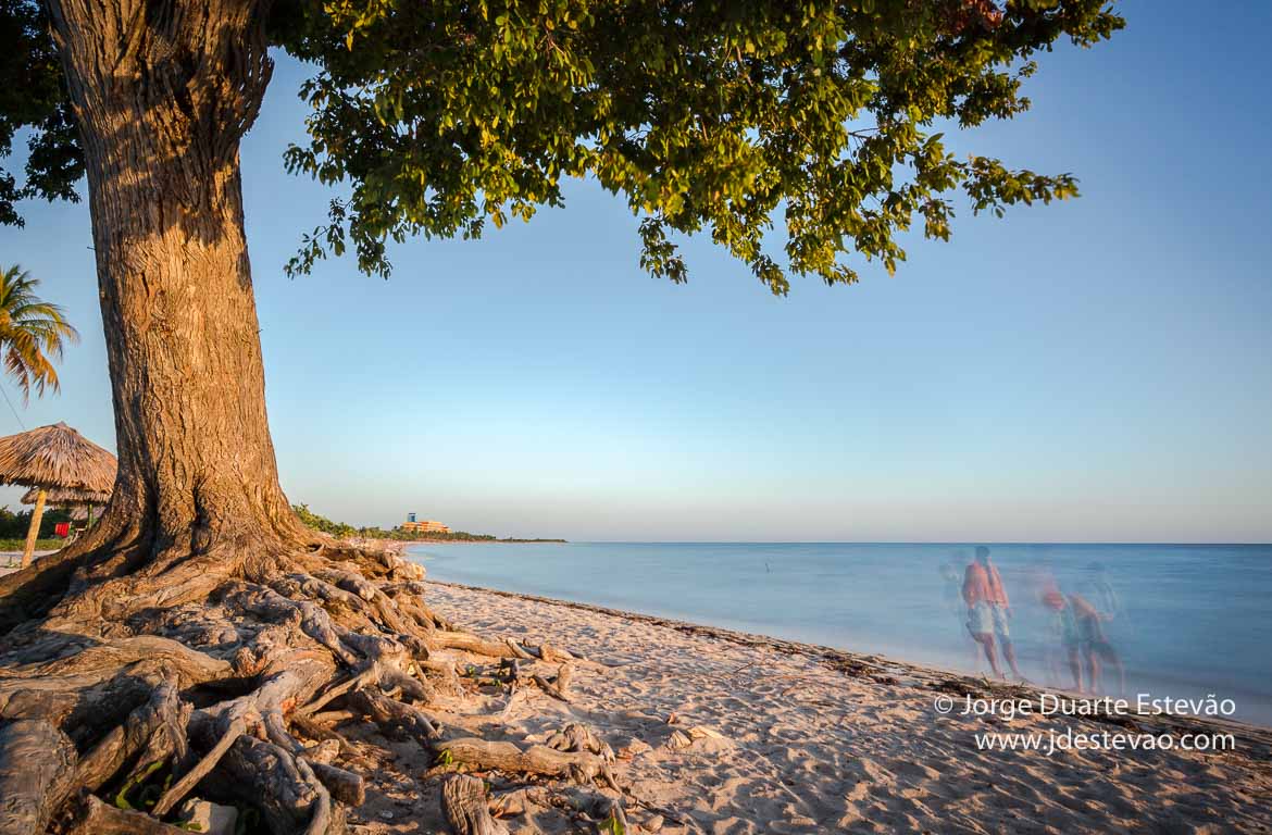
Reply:
[[[976,656],[951,600],[972,554],[959,545],[571,542],[421,545],[432,579],[612,606],[967,672]],[[1118,600],[1105,625],[1127,694],[1231,699],[1272,724],[1272,546],[996,545],[1021,672],[1067,686],[1048,636],[1040,577]],[[951,572],[950,566],[955,570]],[[1052,670],[1060,677],[1048,681]],[[1103,690],[1117,695],[1105,670]]]

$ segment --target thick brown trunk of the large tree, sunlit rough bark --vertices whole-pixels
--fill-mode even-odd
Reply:
[[[120,474],[100,528],[140,546],[132,561],[299,536],[266,420],[239,181],[270,76],[267,5],[50,3],[114,396]]]

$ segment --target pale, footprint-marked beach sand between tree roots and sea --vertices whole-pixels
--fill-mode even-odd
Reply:
[[[1030,698],[875,657],[655,617],[429,583],[458,626],[548,643],[605,664],[579,666],[567,704],[524,687],[443,696],[441,722],[487,738],[543,742],[570,722],[617,752],[614,775],[639,831],[712,832],[1267,832],[1272,733],[1179,719],[944,717],[934,699],[964,692]],[[491,659],[439,653],[460,668]],[[550,672],[537,662],[533,667]],[[533,667],[530,671],[533,672]],[[976,733],[1231,733],[1235,751],[983,751]],[[355,832],[444,832],[439,782],[412,742],[342,726],[371,780]],[[683,734],[683,736],[682,736]],[[687,747],[677,742],[689,741]],[[432,774],[439,770],[434,769]],[[496,796],[523,778],[485,774]],[[560,784],[557,784],[560,785]],[[556,810],[510,816],[511,832],[574,832]]]

